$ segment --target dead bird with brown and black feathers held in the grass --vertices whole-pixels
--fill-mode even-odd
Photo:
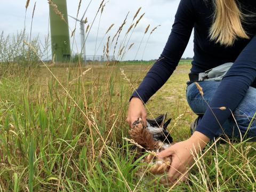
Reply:
[[[171,119],[168,119],[166,122],[165,120],[166,114],[160,115],[155,119],[147,119],[147,125],[143,125],[142,119],[138,118],[129,130],[131,138],[143,147],[143,149],[137,149],[139,156],[145,151],[150,151],[149,155],[141,160],[142,163],[146,164],[139,170],[139,175],[143,175],[145,171],[153,175],[162,175],[170,169],[172,163],[171,157],[159,159],[156,156],[157,153],[174,144],[167,130]],[[166,177],[161,177],[159,182],[166,186],[170,183]]]

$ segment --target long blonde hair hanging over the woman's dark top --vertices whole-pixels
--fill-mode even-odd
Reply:
[[[233,45],[237,37],[249,38],[242,21],[244,14],[235,0],[214,0],[214,21],[210,29],[210,39],[221,45]]]

